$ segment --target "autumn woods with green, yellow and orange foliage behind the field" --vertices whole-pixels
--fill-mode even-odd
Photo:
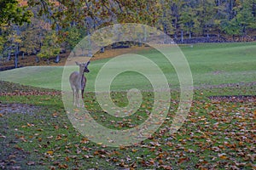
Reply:
[[[256,0],[0,0],[0,6],[2,60],[36,54],[58,62],[61,50],[117,23],[154,26],[180,43],[253,41],[256,34]]]

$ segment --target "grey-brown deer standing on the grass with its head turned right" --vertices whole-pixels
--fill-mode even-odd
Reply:
[[[73,105],[77,105],[79,101],[79,90],[81,90],[82,99],[84,99],[84,88],[86,85],[86,77],[84,77],[84,72],[90,72],[87,66],[90,64],[90,61],[86,63],[75,62],[79,65],[79,72],[73,71],[69,76],[70,86],[73,91]]]

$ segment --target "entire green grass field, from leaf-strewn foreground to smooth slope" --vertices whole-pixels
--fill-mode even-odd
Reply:
[[[62,67],[0,72],[0,168],[255,169],[256,42],[181,48],[195,82],[193,103],[183,126],[177,133],[169,133],[179,104],[174,69],[154,50],[138,52],[160,65],[175,89],[166,121],[160,128],[143,142],[117,148],[94,143],[73,127],[58,91]],[[149,82],[131,71],[116,77],[111,87],[116,105],[127,105],[125,89],[146,90],[135,114],[124,118],[110,116],[102,111],[93,92],[97,71],[107,61],[91,62],[84,105],[104,127],[136,127],[153,109],[154,94]],[[78,68],[70,68],[73,70]]]

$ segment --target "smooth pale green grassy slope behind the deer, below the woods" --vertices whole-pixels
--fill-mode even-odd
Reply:
[[[182,46],[181,49],[189,61],[195,86],[253,82],[256,80],[256,42],[197,44],[193,48]],[[154,63],[160,65],[168,81],[172,85],[178,86],[176,72],[166,62],[166,59],[161,57],[161,54],[155,50],[139,52],[138,54],[147,56]],[[96,60],[90,64],[90,73],[87,75],[90,81],[88,81],[87,90],[90,91],[94,88],[97,72],[107,61],[108,59]],[[78,68],[70,68],[70,72],[75,70]],[[0,72],[0,79],[40,88],[61,89],[62,71],[63,67],[61,66],[25,67],[2,71]],[[67,77],[68,75],[66,82],[68,82]],[[117,90],[134,88],[134,84],[131,85],[130,83],[131,78],[134,80],[133,82],[137,82],[137,88],[150,87],[150,83],[141,75],[135,72],[125,72],[115,78],[112,88]],[[145,86],[145,83],[148,86]],[[66,88],[69,89],[68,83]]]

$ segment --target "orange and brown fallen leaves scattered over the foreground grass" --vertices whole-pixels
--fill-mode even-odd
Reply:
[[[26,166],[43,166],[49,169],[255,168],[255,96],[212,96],[207,99],[202,93],[199,94],[202,97],[197,96],[198,99],[194,100],[186,122],[177,133],[169,133],[177,105],[173,102],[169,117],[160,129],[139,144],[120,145],[119,148],[93,144],[89,139],[81,136],[71,128],[67,117],[62,113],[64,111],[52,111],[49,114],[49,122],[44,120],[26,122],[25,119],[22,125],[15,124],[12,128],[15,131],[15,139],[10,139],[7,135],[13,125],[5,121],[8,126],[1,130],[0,140],[4,141],[1,148],[6,149],[1,153],[0,167],[10,169],[22,169]],[[90,103],[90,105],[94,104]],[[28,113],[28,116],[34,116],[32,112],[37,109],[35,105],[2,103],[0,107],[2,120],[7,118],[9,113]],[[145,108],[140,111],[145,111]],[[106,122],[105,120],[109,118],[104,111],[95,109],[91,112],[95,113],[93,116],[97,117],[99,122]],[[135,117],[144,119],[140,115]],[[124,125],[132,122],[132,119],[108,122],[126,127]],[[28,143],[31,146],[25,148]],[[10,145],[12,145],[11,150],[8,149]],[[32,153],[36,153],[38,157],[28,159],[27,157]]]

